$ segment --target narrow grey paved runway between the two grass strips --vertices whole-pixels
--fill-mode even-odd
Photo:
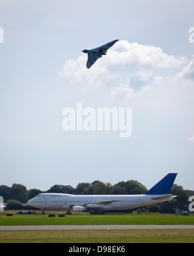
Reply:
[[[194,225],[103,225],[103,226],[0,226],[0,231],[109,229],[194,229]]]

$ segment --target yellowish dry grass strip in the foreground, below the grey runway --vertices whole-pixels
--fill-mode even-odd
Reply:
[[[0,243],[193,243],[193,229],[0,231]]]

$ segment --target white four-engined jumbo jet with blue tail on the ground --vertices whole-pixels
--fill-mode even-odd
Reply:
[[[169,194],[177,173],[169,173],[145,194],[134,195],[80,195],[42,193],[28,201],[28,205],[44,210],[73,210],[74,212],[103,213],[171,201]]]

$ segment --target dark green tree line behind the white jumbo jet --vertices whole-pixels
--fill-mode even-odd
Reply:
[[[28,200],[34,198],[43,192],[55,192],[63,194],[144,194],[147,191],[146,187],[136,180],[120,181],[115,185],[111,183],[103,183],[96,180],[92,183],[78,183],[76,188],[70,185],[53,185],[47,191],[39,189],[27,190],[27,187],[21,184],[14,183],[12,187],[0,185],[0,196],[3,196],[4,202],[9,200],[17,200],[26,204]],[[175,208],[188,209],[188,198],[194,195],[194,191],[184,190],[182,186],[174,184],[171,189],[171,194],[177,198],[171,202],[162,204],[150,205],[142,207],[140,211],[153,211],[160,213],[171,213]]]

